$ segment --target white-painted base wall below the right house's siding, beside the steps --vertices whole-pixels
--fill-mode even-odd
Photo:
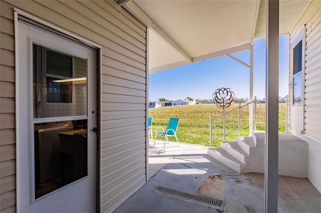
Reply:
[[[321,142],[292,130],[292,134],[308,143],[308,179],[321,193]]]

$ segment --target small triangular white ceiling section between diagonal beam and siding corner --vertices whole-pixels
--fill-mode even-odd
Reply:
[[[185,60],[177,51],[169,46],[152,30],[149,33],[149,68],[160,67],[177,61]],[[187,61],[187,60],[186,60]],[[187,61],[188,63],[188,61]],[[151,70],[152,71],[152,70]]]

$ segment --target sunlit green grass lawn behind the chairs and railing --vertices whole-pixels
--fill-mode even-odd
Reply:
[[[244,104],[242,104],[244,105]],[[231,105],[227,111],[238,107],[239,104]],[[261,110],[260,110],[261,107]],[[246,125],[248,119],[247,107],[243,107],[241,110],[241,123],[243,126]],[[282,123],[285,123],[285,104],[282,106]],[[203,146],[210,146],[210,115],[214,117],[222,113],[222,109],[217,107],[215,104],[204,104],[204,105],[183,105],[183,106],[165,106],[154,109],[149,109],[149,116],[152,116],[152,130],[155,134],[156,127],[163,127],[166,130],[168,121],[170,117],[180,118],[178,129],[176,132],[179,142],[200,144]],[[261,116],[261,122],[265,122],[265,104],[256,106],[257,122],[259,122],[259,114]],[[230,130],[233,130],[234,123],[238,125],[238,110],[235,114],[226,115],[226,125],[230,125]],[[279,104],[279,121],[281,122],[281,104]],[[213,122],[213,125],[215,123]],[[241,125],[241,126],[242,126]],[[216,134],[220,129],[219,122],[216,122]],[[221,119],[221,133],[223,129],[223,121]],[[264,124],[257,124],[256,130],[265,130]],[[279,131],[285,131],[285,125],[279,125]],[[235,136],[237,136],[238,131],[226,136],[226,141],[235,141]],[[240,131],[241,136],[248,136],[248,127]],[[153,136],[154,137],[154,136]],[[213,138],[215,137],[215,132],[213,129]],[[157,136],[156,139],[164,140],[163,137]],[[213,142],[213,146],[221,146],[221,141],[223,138],[219,138]],[[169,141],[176,141],[175,137],[169,137]]]

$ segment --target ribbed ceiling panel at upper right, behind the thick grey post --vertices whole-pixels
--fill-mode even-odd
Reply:
[[[290,33],[293,25],[307,7],[310,0],[280,0],[280,35]],[[266,2],[261,0],[256,21],[255,38],[265,37]]]

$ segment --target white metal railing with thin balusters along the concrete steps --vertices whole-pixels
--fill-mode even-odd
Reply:
[[[264,102],[262,109],[261,109],[261,102]],[[286,96],[285,100],[284,99],[279,100],[279,108],[281,108],[279,110],[279,125],[285,125],[285,132],[288,132],[288,114],[289,114],[289,109],[287,104],[288,102],[289,102],[288,96]],[[252,115],[254,119],[253,119],[253,122],[251,123],[249,122],[250,105],[252,105],[254,108],[254,113]],[[282,113],[284,109],[283,105],[285,105],[285,108],[286,108],[285,120]],[[238,107],[231,109],[229,111],[226,111],[225,109],[223,109],[223,113],[214,118],[212,117],[212,115],[210,115],[210,148],[212,148],[212,142],[221,137],[223,137],[223,142],[225,142],[226,136],[235,131],[238,131],[238,135],[240,136],[241,130],[246,127],[252,127],[253,125],[254,130],[256,130],[257,124],[265,124],[265,119],[264,121],[262,121],[262,115],[261,115],[262,111],[264,112],[264,115],[265,115],[265,100],[257,100],[255,97],[253,101],[246,103],[244,105],[241,105],[241,103],[239,103]],[[257,115],[257,112],[258,112],[258,115]],[[251,135],[251,132],[252,131],[249,128],[249,135]]]

